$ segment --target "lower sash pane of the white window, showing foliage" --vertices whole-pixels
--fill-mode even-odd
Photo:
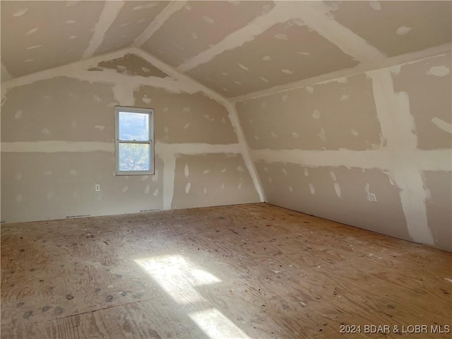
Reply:
[[[119,171],[149,171],[148,143],[119,143]]]

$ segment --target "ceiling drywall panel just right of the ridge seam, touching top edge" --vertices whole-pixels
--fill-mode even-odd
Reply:
[[[178,66],[273,6],[273,1],[188,1],[142,48]]]

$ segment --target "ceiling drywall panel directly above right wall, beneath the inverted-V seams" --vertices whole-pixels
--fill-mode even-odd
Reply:
[[[234,97],[357,64],[301,21],[289,20],[188,74],[222,95]]]

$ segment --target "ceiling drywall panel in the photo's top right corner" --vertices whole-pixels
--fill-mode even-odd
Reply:
[[[451,42],[452,1],[334,1],[333,16],[389,57]]]

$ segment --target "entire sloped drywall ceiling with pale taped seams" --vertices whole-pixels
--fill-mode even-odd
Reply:
[[[1,1],[1,80],[138,47],[237,97],[450,50],[451,1]]]

